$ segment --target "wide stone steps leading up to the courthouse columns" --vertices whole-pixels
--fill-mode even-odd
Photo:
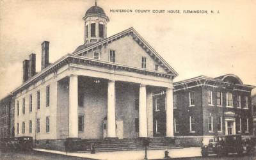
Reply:
[[[174,140],[171,138],[150,138],[150,143],[147,149],[170,149],[170,148],[181,148],[174,145]],[[111,152],[121,150],[144,150],[143,140],[139,138],[135,139],[104,139],[104,140],[86,140],[88,147],[85,151],[91,152],[92,144],[95,148],[95,152]],[[90,145],[89,145],[90,144]]]

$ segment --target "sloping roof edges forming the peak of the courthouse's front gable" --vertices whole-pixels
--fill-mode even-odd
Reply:
[[[97,49],[97,47],[105,44],[109,44],[116,39],[123,38],[126,35],[132,35],[134,40],[140,44],[140,46],[148,53],[150,56],[156,56],[157,60],[163,64],[163,66],[169,70],[169,72],[172,72],[173,76],[176,77],[179,74],[139,35],[139,33],[134,29],[134,28],[128,28],[125,29],[124,31],[117,33],[113,36],[109,36],[108,38],[101,40],[100,42],[97,42],[95,44],[90,44],[90,45],[80,45],[77,47],[76,51],[72,53],[72,55],[79,55],[82,54],[83,52],[90,51],[92,49]]]

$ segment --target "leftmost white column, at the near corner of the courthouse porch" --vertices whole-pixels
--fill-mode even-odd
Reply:
[[[77,76],[69,77],[69,138],[78,138],[78,81]]]

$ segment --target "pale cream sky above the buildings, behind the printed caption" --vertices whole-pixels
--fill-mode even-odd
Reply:
[[[22,84],[22,61],[29,54],[36,54],[40,72],[44,40],[50,42],[51,63],[83,44],[83,16],[93,5],[94,0],[0,0],[0,99]],[[97,5],[109,17],[108,36],[136,29],[178,72],[174,81],[236,74],[256,86],[255,0],[98,0]],[[133,12],[110,12],[115,9]]]

